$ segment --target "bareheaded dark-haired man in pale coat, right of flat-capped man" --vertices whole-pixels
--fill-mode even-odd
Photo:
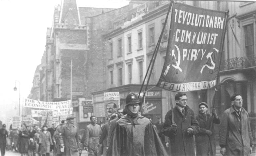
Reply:
[[[100,125],[97,123],[96,116],[90,117],[91,123],[85,129],[85,149],[88,151],[88,156],[98,156],[99,154],[99,137],[101,135]]]

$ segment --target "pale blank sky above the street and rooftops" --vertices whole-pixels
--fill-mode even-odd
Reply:
[[[128,0],[77,0],[79,7],[120,8]],[[54,7],[61,0],[0,0],[0,120],[17,114],[27,98],[36,66],[52,26]],[[14,91],[15,86],[17,91]],[[20,84],[20,88],[19,88]],[[16,109],[15,109],[16,108]]]

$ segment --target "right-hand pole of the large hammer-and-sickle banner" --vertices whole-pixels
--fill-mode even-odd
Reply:
[[[222,33],[223,34],[223,38],[222,38],[222,48],[221,48],[221,57],[220,57],[220,62],[219,62],[219,69],[218,69],[218,73],[217,73],[217,80],[216,80],[216,85],[215,85],[215,93],[214,93],[214,99],[212,101],[212,108],[215,108],[215,102],[216,102],[216,99],[217,99],[217,87],[218,87],[218,83],[219,83],[219,79],[220,79],[220,69],[221,69],[221,60],[222,60],[222,55],[223,55],[223,47],[224,47],[224,41],[225,41],[225,36],[226,36],[226,29],[227,29],[227,19],[228,19],[228,15],[229,15],[229,10],[226,11],[226,16],[225,16],[225,28],[224,28],[224,32]],[[216,113],[216,112],[215,112]],[[211,115],[211,122],[210,122],[210,130],[212,128],[212,125],[213,125],[213,115]]]

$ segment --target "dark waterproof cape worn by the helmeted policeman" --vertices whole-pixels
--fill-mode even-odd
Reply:
[[[108,156],[165,156],[161,140],[151,121],[126,114],[116,122],[110,136]]]

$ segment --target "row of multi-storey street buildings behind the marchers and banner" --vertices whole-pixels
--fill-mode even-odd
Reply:
[[[227,27],[220,77],[219,101],[215,106],[218,114],[230,107],[230,96],[234,92],[243,95],[244,107],[255,117],[256,112],[256,27],[255,2],[228,1],[179,1],[188,5],[213,10],[229,9],[231,27]],[[64,0],[55,8],[53,25],[46,43],[44,62],[47,86],[40,91],[40,100],[70,98],[70,62],[73,63],[72,91],[91,99],[94,105],[104,107],[102,96],[106,91],[120,91],[121,107],[130,91],[138,92],[146,74],[152,53],[163,28],[169,1],[131,1],[119,9],[78,7],[75,0]],[[167,47],[170,15],[160,44],[159,53],[150,79],[153,87],[160,77]],[[42,62],[43,64],[43,62]],[[42,87],[40,86],[40,89]],[[151,87],[148,87],[148,89]],[[158,96],[158,92],[160,95]],[[149,90],[150,92],[150,90]],[[156,117],[164,116],[174,103],[175,93],[154,87],[148,93],[149,103],[161,105],[157,112],[148,112]],[[150,95],[157,97],[150,97]],[[197,112],[197,103],[205,101],[212,107],[214,89],[187,93],[189,105]],[[155,101],[152,99],[155,98]],[[74,109],[77,117],[78,108]],[[94,110],[97,117],[103,117]],[[79,122],[79,120],[77,121]],[[82,128],[85,123],[81,123]]]

